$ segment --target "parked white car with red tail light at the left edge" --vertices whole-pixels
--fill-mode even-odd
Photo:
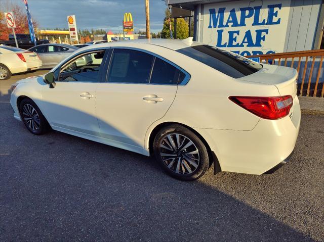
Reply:
[[[41,66],[37,53],[0,45],[0,80],[9,79],[12,74],[37,70]]]

